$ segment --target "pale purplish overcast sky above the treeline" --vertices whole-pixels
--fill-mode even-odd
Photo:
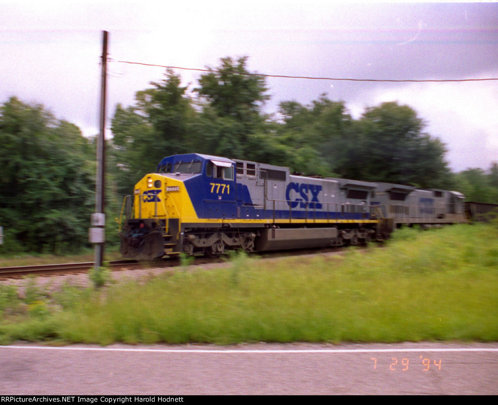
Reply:
[[[0,0],[0,104],[16,96],[96,135],[102,30],[109,31],[108,123],[116,104],[160,81],[164,69],[205,68],[248,56],[249,71],[354,79],[498,78],[498,3],[331,1]],[[184,84],[200,73],[178,70]],[[376,83],[268,78],[281,101],[327,93],[358,118],[397,101],[447,144],[454,171],[498,161],[498,81]],[[110,134],[108,134],[110,135]],[[0,146],[1,147],[1,146]]]

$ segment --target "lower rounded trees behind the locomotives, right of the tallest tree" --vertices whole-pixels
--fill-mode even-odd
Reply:
[[[450,185],[444,145],[423,133],[423,121],[408,106],[383,103],[355,121],[344,102],[322,95],[308,107],[281,103],[279,113],[284,121],[279,140],[292,145],[287,164],[294,170],[419,187]]]

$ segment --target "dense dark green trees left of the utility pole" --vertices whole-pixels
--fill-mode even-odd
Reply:
[[[7,248],[61,253],[84,246],[95,171],[80,130],[13,97],[0,108],[0,143],[0,223]]]

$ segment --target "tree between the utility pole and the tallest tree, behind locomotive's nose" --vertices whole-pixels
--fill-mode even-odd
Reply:
[[[133,184],[154,171],[164,156],[192,151],[189,125],[195,111],[180,82],[167,70],[162,82],[151,82],[153,88],[136,93],[135,106],[116,107],[111,157],[120,193],[129,194]]]

